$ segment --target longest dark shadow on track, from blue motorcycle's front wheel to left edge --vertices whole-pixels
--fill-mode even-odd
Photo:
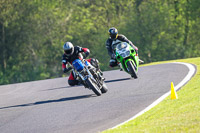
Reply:
[[[55,100],[38,101],[38,102],[35,102],[35,103],[27,103],[27,104],[21,104],[21,105],[13,105],[13,106],[7,106],[7,107],[0,107],[0,109],[34,106],[34,105],[40,105],[40,104],[47,104],[47,103],[54,103],[54,102],[64,102],[64,101],[85,99],[85,98],[91,98],[91,97],[96,97],[96,95],[90,94],[90,95],[83,95],[83,96],[74,96],[74,97],[60,98],[60,99],[55,99]]]

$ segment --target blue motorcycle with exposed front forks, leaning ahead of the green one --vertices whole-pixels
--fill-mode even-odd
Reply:
[[[72,62],[72,72],[85,88],[92,90],[97,96],[108,91],[100,68],[95,68],[88,61],[84,59],[74,60]]]

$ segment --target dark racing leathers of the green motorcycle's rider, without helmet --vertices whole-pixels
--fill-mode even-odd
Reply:
[[[114,49],[116,48],[117,44],[121,42],[129,43],[136,50],[136,52],[138,51],[138,48],[122,34],[119,34],[115,39],[111,39],[111,37],[109,37],[108,40],[106,41],[106,48],[108,50],[108,54],[111,57],[109,62],[110,67],[115,67],[118,65],[117,60],[115,58]]]

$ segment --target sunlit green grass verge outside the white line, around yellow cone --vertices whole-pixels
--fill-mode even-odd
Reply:
[[[147,65],[186,62],[197,66],[196,75],[177,92],[178,99],[170,96],[143,115],[103,133],[200,133],[200,58],[189,58]]]

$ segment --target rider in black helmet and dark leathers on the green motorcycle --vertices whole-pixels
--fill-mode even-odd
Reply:
[[[118,65],[116,56],[114,53],[114,48],[113,48],[113,46],[115,46],[116,44],[120,42],[127,42],[135,49],[136,53],[138,53],[138,48],[130,40],[128,40],[124,35],[118,34],[118,31],[116,28],[114,27],[110,28],[108,30],[108,33],[110,37],[106,41],[106,48],[108,50],[108,54],[111,57],[110,63],[109,63],[110,67],[115,67]]]

